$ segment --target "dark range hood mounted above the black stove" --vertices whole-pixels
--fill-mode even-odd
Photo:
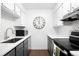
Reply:
[[[75,21],[75,20],[79,20],[79,7],[76,8],[73,12],[64,15],[61,21]]]

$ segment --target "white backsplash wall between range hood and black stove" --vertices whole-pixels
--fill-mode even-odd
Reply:
[[[71,22],[69,22],[71,23]],[[67,24],[67,25],[66,25]],[[71,31],[78,31],[79,30],[79,20],[74,21],[71,24],[68,24],[68,22],[63,26],[59,26],[54,28],[56,32],[56,36],[58,37],[68,37],[71,34]]]

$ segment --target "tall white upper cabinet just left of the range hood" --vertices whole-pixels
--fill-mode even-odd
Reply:
[[[58,5],[58,7],[56,8],[56,11],[54,12],[53,18],[55,19],[54,27],[63,25],[63,23],[61,21],[61,19],[63,18],[63,4]]]

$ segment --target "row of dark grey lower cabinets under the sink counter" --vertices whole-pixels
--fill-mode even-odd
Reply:
[[[31,45],[31,37],[26,38],[22,43],[16,46],[14,49],[9,51],[4,56],[28,56],[29,50],[28,48]]]

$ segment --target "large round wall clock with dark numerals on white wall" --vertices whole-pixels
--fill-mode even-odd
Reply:
[[[41,16],[38,16],[33,20],[33,25],[36,29],[44,28],[45,24],[45,19]]]

